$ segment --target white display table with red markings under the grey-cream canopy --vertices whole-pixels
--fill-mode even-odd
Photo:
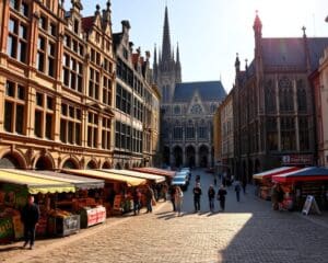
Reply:
[[[87,228],[106,220],[106,208],[104,206],[83,207],[80,210],[81,228]]]

